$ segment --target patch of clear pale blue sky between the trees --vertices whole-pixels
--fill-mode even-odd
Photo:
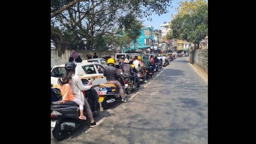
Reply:
[[[178,12],[175,11],[175,7],[179,7],[179,4],[177,4],[179,1],[186,1],[186,0],[172,0],[172,6],[173,7],[169,7],[167,8],[169,13],[167,14],[161,14],[160,16],[158,14],[152,14],[150,18],[152,18],[152,21],[147,21],[146,18],[143,19],[145,20],[143,25],[144,26],[148,26],[151,25],[152,27],[154,27],[154,29],[161,29],[160,25],[164,24],[164,22],[166,21],[166,23],[168,23],[169,21],[172,20],[171,18],[171,14],[175,15]],[[188,2],[190,0],[187,0]],[[194,0],[195,1],[195,0]],[[208,3],[208,0],[205,0]]]

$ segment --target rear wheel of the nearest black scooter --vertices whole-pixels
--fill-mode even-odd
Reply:
[[[56,140],[62,140],[65,137],[68,136],[68,130],[62,130],[61,129],[61,124],[64,123],[63,120],[61,120],[59,123],[56,123],[55,125],[55,129],[52,131],[52,136],[56,139]]]

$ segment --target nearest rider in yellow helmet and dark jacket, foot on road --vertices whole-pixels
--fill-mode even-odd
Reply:
[[[108,66],[104,69],[103,75],[106,76],[107,82],[116,85],[116,87],[119,89],[119,94],[121,95],[122,102],[127,102],[125,98],[125,92],[121,85],[121,83],[118,81],[118,79],[121,76],[121,73],[119,70],[115,67],[115,60],[112,58],[109,58],[107,60]]]

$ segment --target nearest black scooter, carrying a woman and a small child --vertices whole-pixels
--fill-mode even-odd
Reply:
[[[92,81],[95,78],[92,77]],[[83,81],[83,84],[86,82]],[[93,117],[97,117],[100,112],[99,96],[97,91],[92,87],[84,92]],[[84,108],[85,110],[85,108]],[[58,101],[51,103],[51,132],[55,139],[62,140],[67,137],[69,131],[74,130],[81,125],[85,120],[79,119],[80,110],[79,105],[75,102],[58,103]],[[86,112],[84,111],[84,116]]]

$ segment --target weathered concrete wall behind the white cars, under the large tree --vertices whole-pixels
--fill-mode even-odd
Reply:
[[[96,52],[98,55],[98,58],[101,58],[104,55],[111,55],[112,58],[114,58],[115,53],[111,51],[91,51],[91,50],[76,50],[77,55],[80,55],[82,60],[87,60],[86,55],[88,55],[90,52],[92,55]],[[66,50],[65,53],[59,57],[57,49],[51,49],[51,68],[55,65],[59,64],[65,64],[69,62],[69,55],[71,55],[72,50]]]

